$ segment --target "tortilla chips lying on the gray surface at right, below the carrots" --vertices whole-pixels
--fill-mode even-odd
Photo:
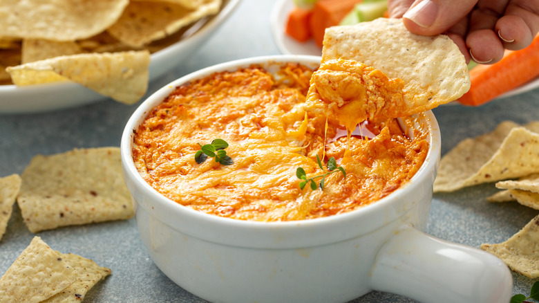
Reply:
[[[517,201],[539,210],[539,121],[504,121],[491,133],[462,140],[441,160],[435,192],[496,182],[502,191],[486,199]],[[539,216],[501,244],[482,244],[512,270],[539,277]]]

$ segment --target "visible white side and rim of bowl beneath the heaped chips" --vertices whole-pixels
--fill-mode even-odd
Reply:
[[[200,47],[216,28],[231,15],[240,0],[223,0],[217,15],[193,25],[179,42],[151,54],[150,81],[160,77]],[[0,113],[36,113],[78,107],[108,97],[73,83],[49,83],[17,87],[0,85]]]

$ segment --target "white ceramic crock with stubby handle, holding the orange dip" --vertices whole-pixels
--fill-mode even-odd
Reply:
[[[283,55],[218,64],[151,95],[122,136],[124,178],[142,241],[157,266],[185,290],[211,302],[346,302],[375,289],[422,302],[509,302],[511,273],[482,250],[423,230],[439,165],[440,134],[424,113],[430,149],[408,185],[359,210],[289,222],[240,221],[197,212],[148,185],[133,165],[133,129],[173,89],[216,71],[320,57]]]

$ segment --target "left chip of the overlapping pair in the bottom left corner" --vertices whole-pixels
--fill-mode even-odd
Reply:
[[[39,237],[0,278],[2,302],[41,302],[75,281],[77,272]]]

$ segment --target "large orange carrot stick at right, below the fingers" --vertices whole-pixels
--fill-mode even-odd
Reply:
[[[459,102],[478,106],[516,89],[539,76],[539,35],[522,50],[506,50],[495,64],[478,64],[470,70],[470,90]]]

